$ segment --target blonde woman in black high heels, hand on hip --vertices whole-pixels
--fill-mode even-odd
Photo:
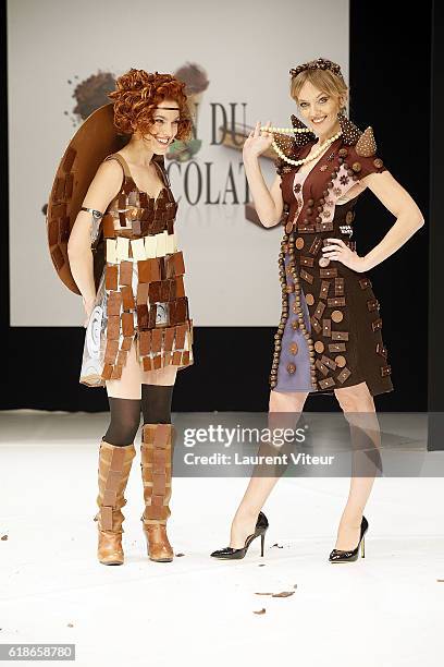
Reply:
[[[347,86],[336,63],[319,58],[291,70],[291,95],[305,123],[292,117],[294,138],[257,123],[244,163],[260,221],[285,227],[280,254],[282,317],[270,374],[270,413],[299,415],[309,393],[331,393],[350,425],[351,440],[367,438],[378,452],[373,397],[391,391],[375,298],[366,271],[395,253],[423,225],[418,206],[375,154],[372,130],[361,133],[344,114]],[[269,189],[259,156],[273,143],[278,177]],[[395,216],[367,255],[350,241],[354,207],[370,190]],[[357,447],[359,449],[359,447]],[[221,559],[243,558],[268,520],[261,508],[278,476],[254,475],[237,508]],[[331,562],[363,555],[363,509],[374,473],[354,475]]]

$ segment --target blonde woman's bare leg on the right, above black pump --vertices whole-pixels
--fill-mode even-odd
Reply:
[[[373,487],[378,463],[372,461],[372,453],[379,454],[381,434],[375,414],[373,397],[367,384],[344,387],[335,390],[344,416],[349,422],[354,470],[346,506],[337,530],[336,549],[354,549],[359,542],[360,524],[363,509]],[[362,442],[370,449],[370,459],[362,451]],[[370,444],[370,448],[369,445]]]

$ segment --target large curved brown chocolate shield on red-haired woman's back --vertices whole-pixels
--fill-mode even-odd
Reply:
[[[81,292],[72,276],[67,257],[71,230],[100,163],[107,156],[123,148],[128,140],[128,136],[119,134],[114,126],[114,104],[104,105],[78,128],[57,169],[46,217],[48,245],[60,279],[76,294]],[[163,156],[156,156],[155,159],[164,172]],[[100,222],[102,214],[104,211],[92,213],[96,223]],[[97,289],[104,266],[101,229],[91,244],[91,251]]]

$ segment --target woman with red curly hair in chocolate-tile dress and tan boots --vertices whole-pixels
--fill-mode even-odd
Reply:
[[[171,561],[171,400],[178,368],[193,363],[182,252],[174,234],[176,203],[163,156],[175,138],[189,136],[185,84],[171,74],[134,70],[119,77],[114,125],[130,141],[109,155],[94,177],[71,231],[67,253],[81,291],[88,331],[100,315],[98,377],[106,385],[111,421],[99,451],[98,559],[121,565],[122,507],[135,457],[134,438],[144,417],[141,517],[148,556]],[[104,269],[96,293],[91,242],[102,237]],[[84,353],[85,361],[85,353]]]

